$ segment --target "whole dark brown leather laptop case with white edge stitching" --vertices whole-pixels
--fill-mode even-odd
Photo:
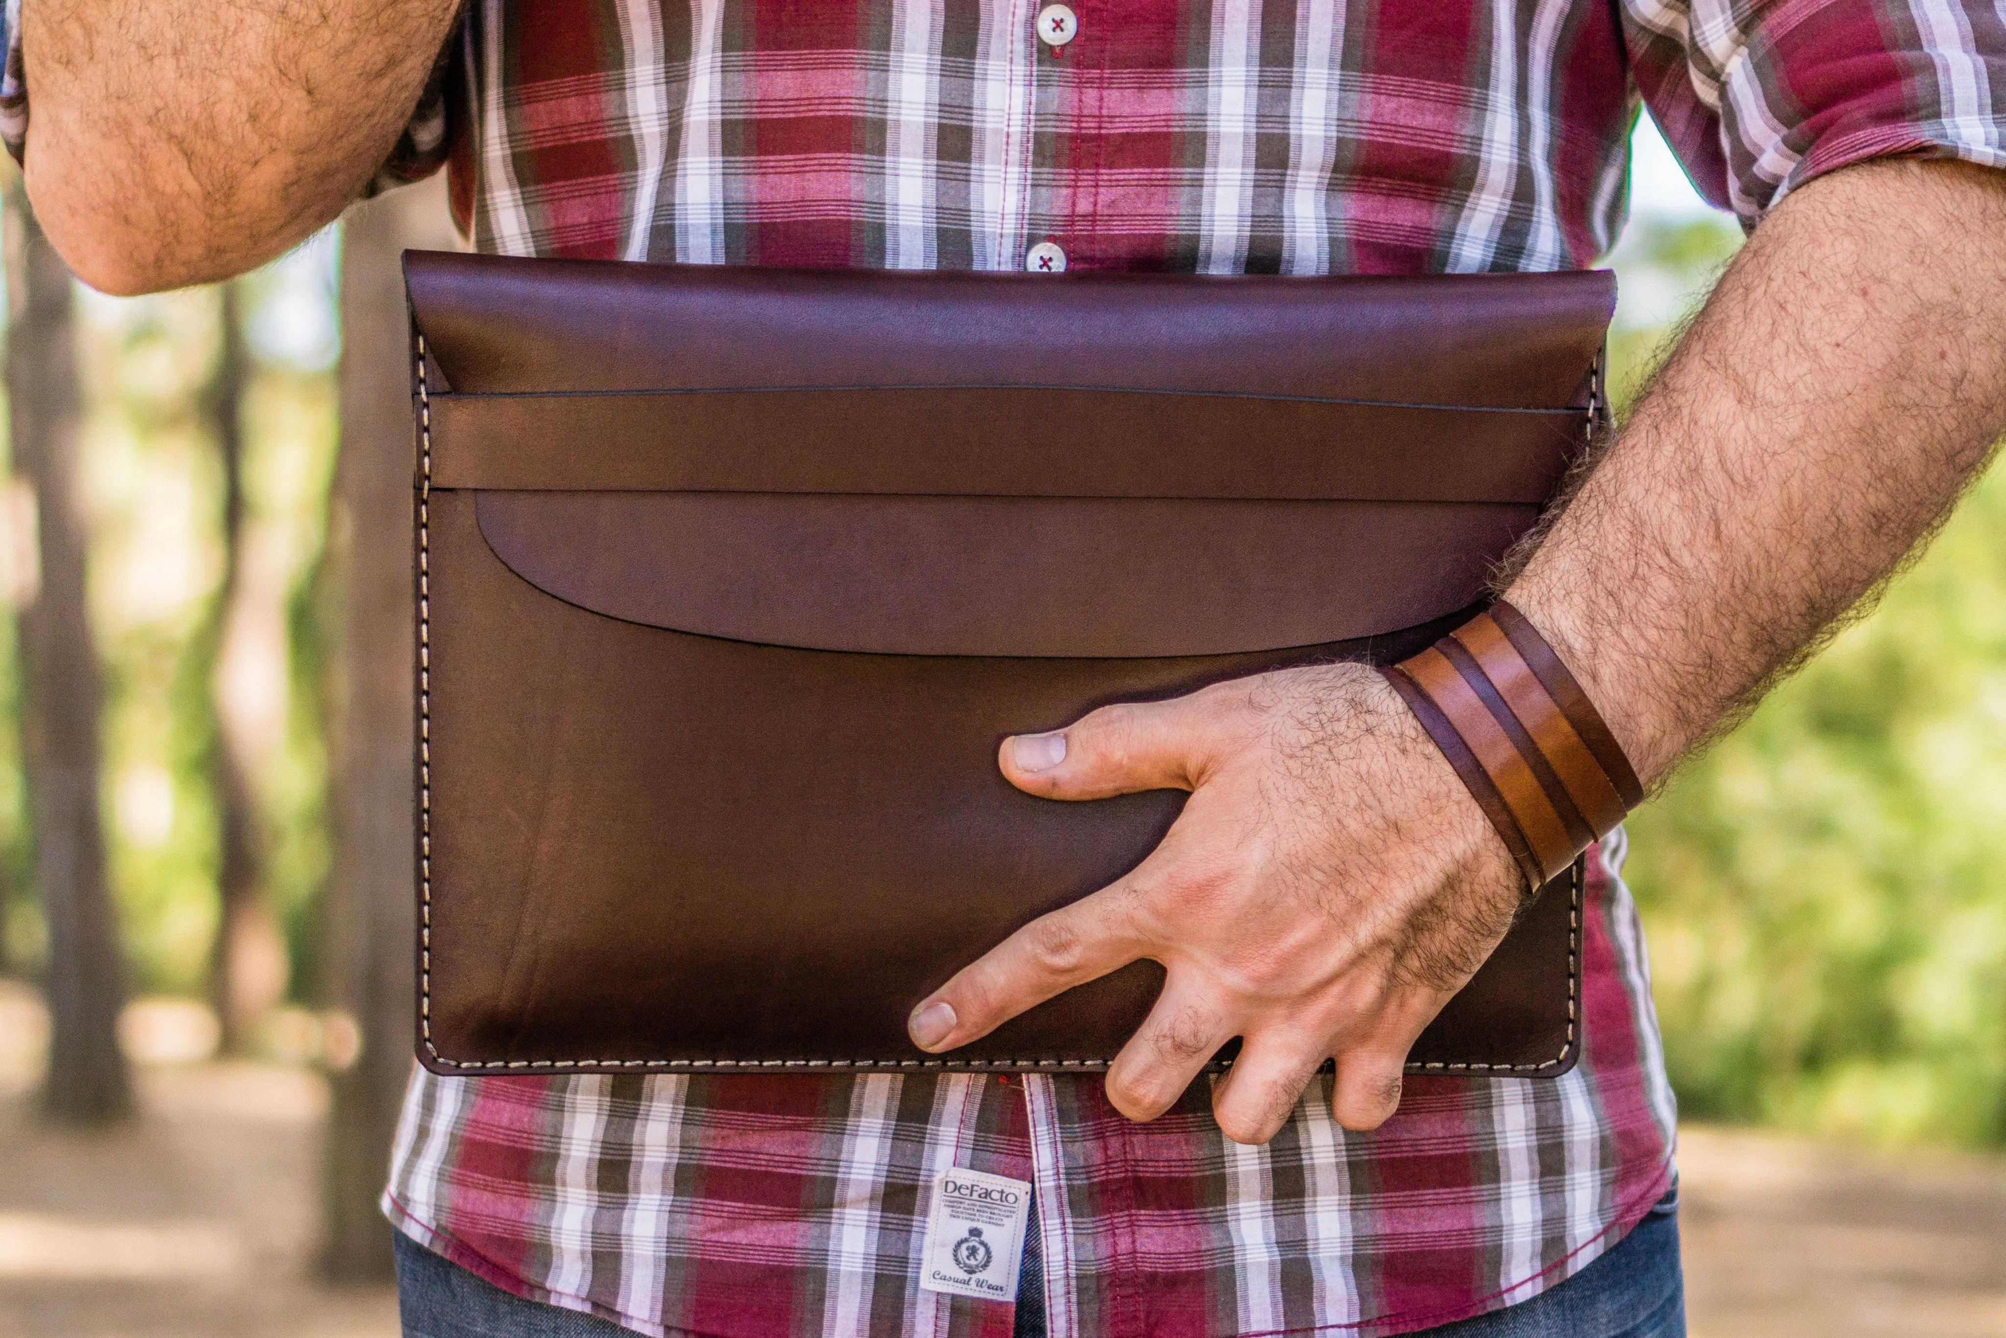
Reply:
[[[441,1073],[1103,1067],[1151,963],[953,1055],[905,1037],[1184,804],[1031,798],[1001,738],[1446,634],[1579,451],[1613,301],[1605,275],[407,279]],[[1577,865],[1410,1067],[1565,1071],[1579,927]]]

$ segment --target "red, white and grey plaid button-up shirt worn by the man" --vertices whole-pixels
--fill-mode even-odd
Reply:
[[[1958,0],[475,0],[379,185],[453,162],[473,243],[730,265],[1432,273],[1591,265],[1649,104],[1745,225],[1874,154],[1994,166],[2006,30]],[[6,26],[18,0],[8,0]],[[18,42],[0,132],[28,128]],[[538,1300],[664,1334],[995,1334],[919,1290],[925,1188],[1035,1182],[1055,1336],[1398,1334],[1553,1286],[1671,1180],[1645,953],[1591,857],[1583,1057],[1414,1077],[1266,1147],[1095,1077],[419,1071],[385,1210]]]

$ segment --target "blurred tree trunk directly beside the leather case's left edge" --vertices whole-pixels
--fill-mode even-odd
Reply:
[[[403,307],[407,247],[457,249],[443,175],[351,209],[341,235],[341,453],[331,560],[335,873],[327,897],[333,1003],[361,1033],[335,1073],[327,1157],[327,1272],[391,1274],[377,1212],[413,1025],[411,764],[411,365]]]

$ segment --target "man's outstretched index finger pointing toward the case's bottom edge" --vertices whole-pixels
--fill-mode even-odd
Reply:
[[[1139,959],[1145,943],[1129,911],[1129,879],[1037,917],[957,971],[913,1009],[907,1021],[913,1043],[925,1051],[967,1045],[1045,999]]]

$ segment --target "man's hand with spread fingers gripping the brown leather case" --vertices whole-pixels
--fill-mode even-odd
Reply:
[[[1392,688],[1358,666],[1280,670],[1107,706],[1003,742],[1045,798],[1190,790],[1133,873],[1033,921],[913,1013],[951,1049],[1135,959],[1167,979],[1107,1071],[1131,1119],[1161,1115],[1232,1037],[1214,1093],[1228,1137],[1264,1143],[1336,1059],[1332,1113],[1372,1129],[1400,1103],[1420,1029],[1511,927],[1523,881]]]

